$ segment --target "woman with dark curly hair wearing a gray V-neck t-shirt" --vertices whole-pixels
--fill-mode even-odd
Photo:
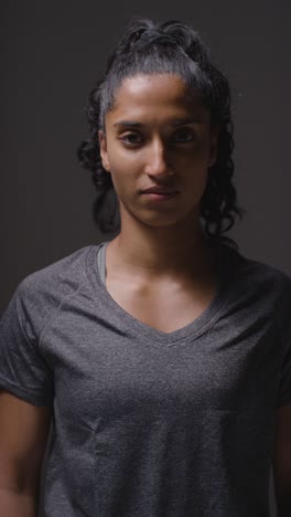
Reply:
[[[24,278],[2,318],[1,515],[35,515],[50,422],[50,517],[267,516],[272,461],[289,515],[291,278],[223,235],[227,80],[190,27],[136,20],[88,116],[117,235]]]

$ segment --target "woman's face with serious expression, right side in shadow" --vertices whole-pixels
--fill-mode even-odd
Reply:
[[[209,110],[186,96],[177,75],[126,78],[99,131],[104,168],[120,202],[121,223],[134,218],[168,226],[198,217],[208,168],[216,158],[217,136]],[[142,193],[151,187],[177,191],[166,199]]]

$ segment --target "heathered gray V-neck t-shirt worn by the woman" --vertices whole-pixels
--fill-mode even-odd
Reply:
[[[44,515],[267,517],[291,278],[220,245],[214,300],[166,334],[109,295],[105,246],[26,276],[1,320],[0,386],[53,405]]]

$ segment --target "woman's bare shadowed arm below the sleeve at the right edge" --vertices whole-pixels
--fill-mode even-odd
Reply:
[[[278,517],[291,516],[291,404],[277,409],[273,481]]]

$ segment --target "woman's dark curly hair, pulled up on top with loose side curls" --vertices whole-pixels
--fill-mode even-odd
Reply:
[[[229,84],[211,62],[208,49],[197,32],[175,20],[155,23],[150,19],[133,19],[109,56],[104,76],[89,94],[89,138],[80,144],[77,155],[80,165],[91,171],[97,190],[93,207],[95,223],[101,232],[115,232],[120,225],[120,220],[115,221],[118,203],[111,175],[101,165],[98,130],[105,129],[105,116],[114,108],[116,92],[126,77],[160,73],[181,76],[190,96],[202,96],[211,112],[213,127],[218,128],[217,158],[208,169],[200,217],[206,238],[223,240],[238,249],[233,239],[222,236],[234,225],[236,215],[242,219],[245,212],[237,205],[231,183],[234,126]],[[108,213],[109,194],[114,196],[111,213]]]

